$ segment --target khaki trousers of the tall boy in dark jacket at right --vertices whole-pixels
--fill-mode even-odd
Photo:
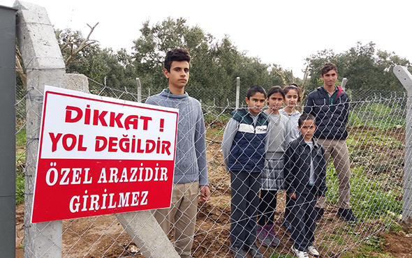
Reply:
[[[351,162],[349,161],[348,146],[344,139],[317,139],[325,149],[325,160],[328,164],[330,157],[333,158],[334,169],[336,169],[339,180],[339,208],[351,208]],[[316,207],[325,208],[325,199],[318,199]]]

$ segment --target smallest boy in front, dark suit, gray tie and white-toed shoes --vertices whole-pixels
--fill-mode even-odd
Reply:
[[[316,229],[316,199],[325,198],[325,150],[312,138],[316,129],[315,117],[302,114],[299,118],[301,137],[290,142],[285,152],[285,186],[290,200],[292,251],[297,257],[319,256],[314,247]]]

